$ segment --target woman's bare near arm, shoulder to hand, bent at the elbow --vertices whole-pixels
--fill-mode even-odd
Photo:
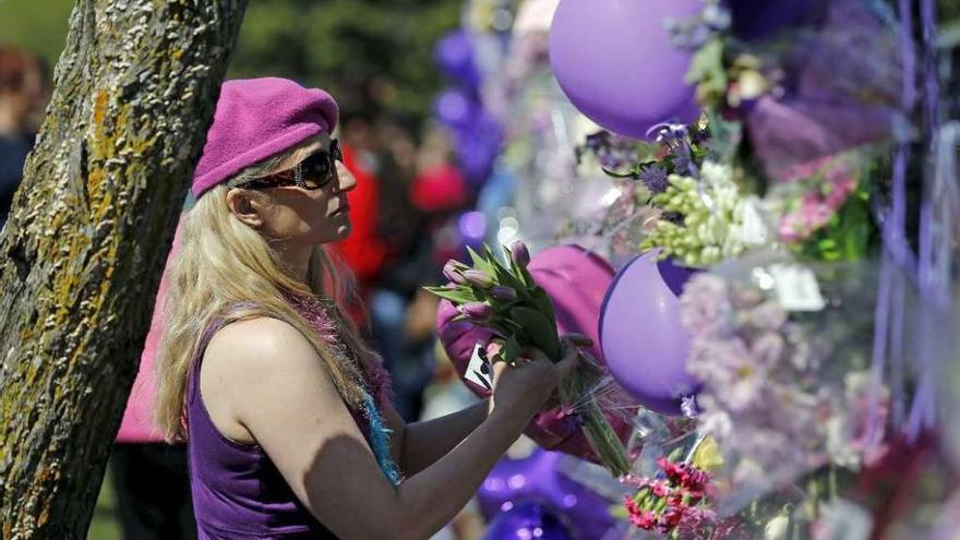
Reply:
[[[466,505],[575,361],[568,355],[552,364],[540,355],[497,370],[493,412],[398,489],[377,467],[320,358],[288,324],[257,319],[217,333],[202,389],[208,408],[226,403],[219,408],[226,422],[236,419],[249,431],[293,493],[339,538],[425,539]]]

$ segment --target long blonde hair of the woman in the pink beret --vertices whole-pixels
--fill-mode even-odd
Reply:
[[[254,165],[231,181],[203,194],[184,217],[182,247],[176,255],[165,299],[165,331],[156,359],[156,417],[168,441],[187,436],[185,397],[193,358],[204,332],[217,320],[224,324],[267,316],[289,323],[313,346],[343,399],[351,408],[368,397],[359,362],[379,357],[363,344],[357,327],[339,308],[352,287],[348,273],[317,245],[310,260],[308,283],[284,273],[276,252],[256,230],[238,219],[227,206],[229,185],[274,170],[285,156]],[[267,197],[252,191],[253,196]],[[333,353],[315,328],[291,305],[291,296],[321,297],[333,304],[331,316],[338,338],[356,362]]]

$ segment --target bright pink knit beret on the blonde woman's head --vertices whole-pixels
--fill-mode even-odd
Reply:
[[[277,77],[226,81],[193,171],[193,196],[336,124],[337,104],[322,89]]]

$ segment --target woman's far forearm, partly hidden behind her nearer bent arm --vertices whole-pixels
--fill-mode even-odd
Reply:
[[[484,399],[449,415],[405,424],[393,407],[384,416],[394,429],[394,458],[411,476],[434,464],[487,419],[490,400]]]

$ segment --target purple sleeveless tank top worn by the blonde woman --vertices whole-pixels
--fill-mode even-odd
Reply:
[[[231,441],[214,425],[199,381],[206,346],[220,327],[221,322],[212,324],[197,344],[187,391],[190,485],[200,540],[336,539],[303,507],[263,448]],[[371,394],[383,404],[389,375],[381,367],[364,371]],[[351,415],[369,444],[367,422],[359,412]]]

